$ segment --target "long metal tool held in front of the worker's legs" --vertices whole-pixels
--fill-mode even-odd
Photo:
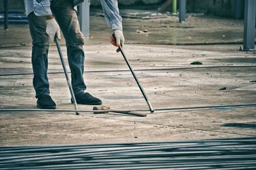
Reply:
[[[71,98],[72,98],[72,101],[74,103],[74,108],[76,110],[76,115],[79,115],[78,108],[77,108],[77,103],[76,103],[76,97],[75,97],[74,91],[72,89],[71,81],[69,80],[69,77],[68,77],[68,71],[67,71],[67,67],[65,66],[65,62],[64,62],[63,55],[62,55],[62,52],[61,52],[59,40],[58,40],[58,38],[55,37],[54,41],[56,43],[56,46],[57,46],[57,49],[58,49],[58,52],[59,52],[59,55],[60,55],[61,65],[62,65],[64,73],[65,73],[65,77],[66,77],[66,80],[67,80],[67,83],[68,83],[68,89],[70,91]]]

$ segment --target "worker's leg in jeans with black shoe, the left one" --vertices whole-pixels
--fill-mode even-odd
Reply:
[[[49,96],[49,81],[47,78],[49,38],[46,33],[45,17],[38,17],[35,13],[28,15],[29,30],[32,38],[32,66],[33,86],[36,91],[36,98],[42,101],[42,108],[55,108],[56,104]]]

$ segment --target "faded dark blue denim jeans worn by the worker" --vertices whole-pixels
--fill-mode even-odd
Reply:
[[[83,79],[84,37],[79,29],[77,13],[70,0],[51,1],[51,10],[66,40],[72,88],[74,94],[77,95],[86,90]],[[45,17],[36,16],[35,13],[32,12],[28,15],[28,20],[33,44],[33,86],[36,91],[36,98],[39,98],[45,94],[50,94],[49,81],[47,78],[49,37],[46,33]]]

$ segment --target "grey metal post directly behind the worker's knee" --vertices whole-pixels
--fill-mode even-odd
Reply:
[[[90,0],[79,5],[79,24],[84,36],[90,36]]]

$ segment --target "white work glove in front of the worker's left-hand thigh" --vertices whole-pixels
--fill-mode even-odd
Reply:
[[[49,35],[49,40],[54,41],[54,37],[56,37],[60,40],[60,26],[56,22],[54,18],[51,18],[49,20],[46,20],[47,26],[46,26],[46,32]]]

